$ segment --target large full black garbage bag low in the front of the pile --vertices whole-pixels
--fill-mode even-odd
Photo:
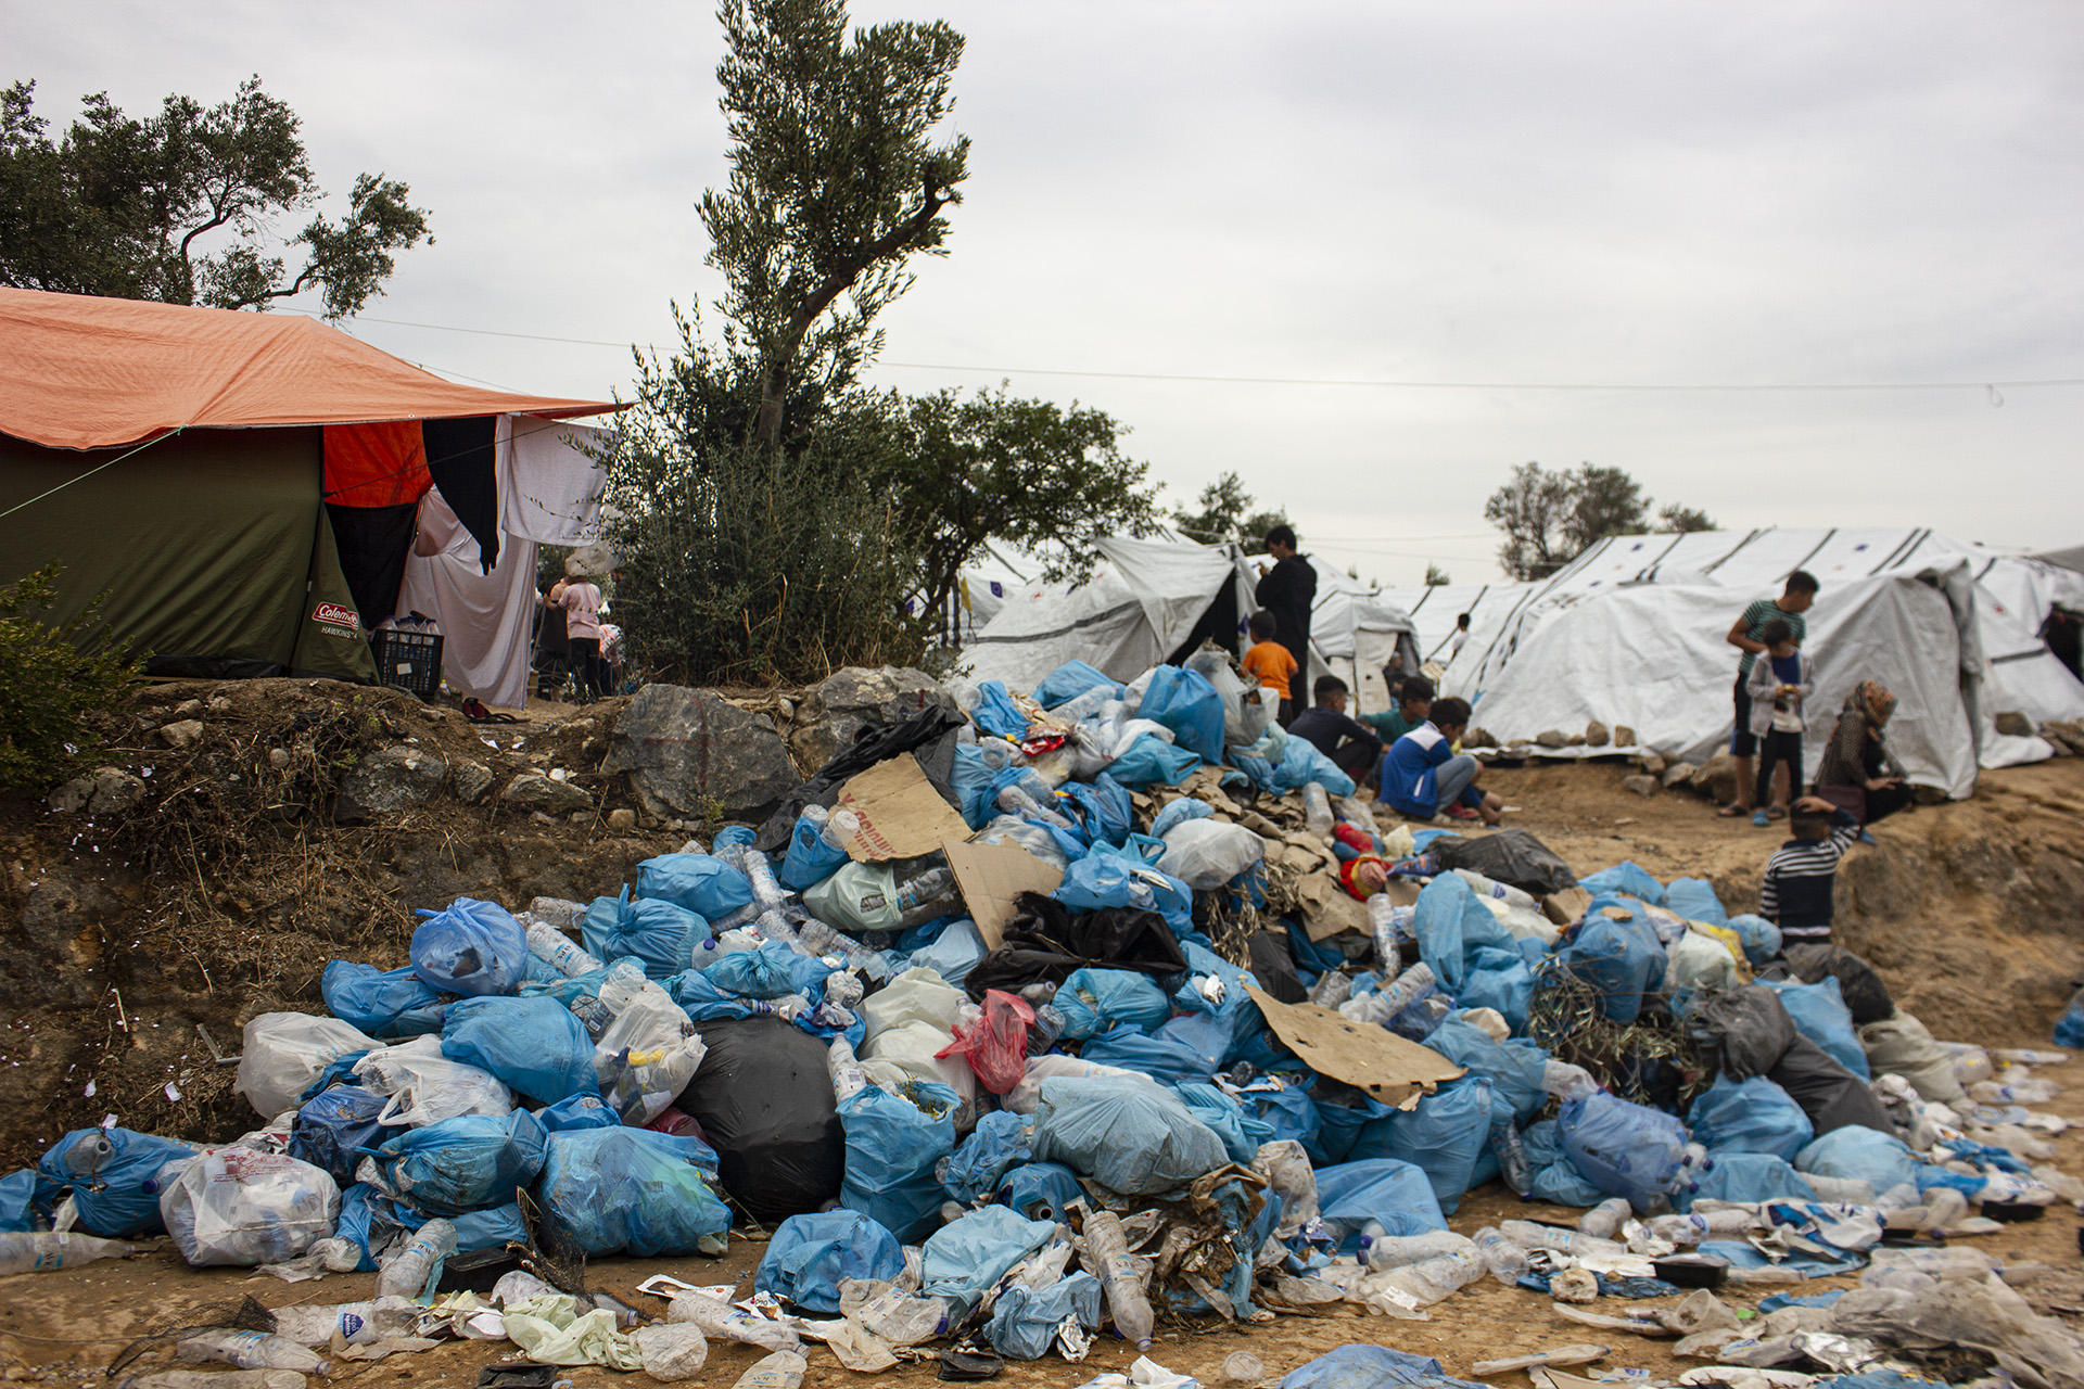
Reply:
[[[761,1220],[823,1208],[846,1175],[825,1043],[779,1018],[702,1022],[709,1056],[677,1106],[717,1150],[723,1189]]]

